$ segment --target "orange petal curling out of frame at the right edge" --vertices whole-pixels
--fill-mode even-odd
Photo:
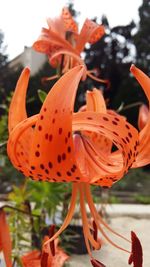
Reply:
[[[150,103],[150,78],[134,65],[130,68],[139,84],[142,86],[145,95]],[[139,154],[133,168],[141,167],[150,163],[150,112],[147,116],[147,123],[139,133]]]

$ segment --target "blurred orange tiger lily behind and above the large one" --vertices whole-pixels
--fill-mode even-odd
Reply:
[[[78,27],[68,8],[63,8],[60,17],[55,19],[47,19],[48,29],[42,28],[41,34],[37,41],[34,42],[33,48],[37,52],[47,54],[50,64],[53,67],[62,65],[62,73],[68,69],[84,64],[80,54],[84,50],[85,44],[88,42],[94,44],[105,33],[104,27],[95,22],[86,19],[83,27],[78,33]],[[64,57],[62,58],[62,55]],[[85,66],[86,67],[86,66]],[[100,82],[108,83],[107,80],[102,80],[94,76],[93,71],[86,71],[86,75]],[[51,80],[58,77],[47,78]]]

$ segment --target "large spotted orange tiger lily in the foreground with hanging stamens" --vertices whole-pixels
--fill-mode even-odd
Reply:
[[[150,99],[149,78],[135,66],[131,67],[131,71]],[[139,133],[122,116],[106,109],[103,96],[96,89],[87,93],[86,108],[73,113],[83,72],[83,66],[76,66],[63,75],[47,95],[40,113],[27,118],[25,95],[29,69],[23,71],[10,105],[7,150],[13,165],[25,176],[38,181],[72,182],[68,214],[61,228],[45,246],[57,238],[70,223],[79,194],[86,247],[92,264],[98,264],[98,261],[93,259],[91,247],[99,249],[101,242],[91,232],[93,226],[88,222],[85,201],[94,220],[94,227],[113,246],[128,253],[130,251],[115,244],[106,234],[107,229],[122,237],[97,213],[90,185],[109,188],[120,180],[129,168],[150,162],[150,136],[147,135],[150,121],[147,120],[147,124]],[[101,143],[104,146],[106,141],[107,149],[101,150]],[[116,147],[114,152],[111,151],[112,143]]]

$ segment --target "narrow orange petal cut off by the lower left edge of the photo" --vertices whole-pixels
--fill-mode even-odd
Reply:
[[[6,267],[12,267],[11,252],[12,244],[9,232],[9,226],[6,221],[6,214],[0,209],[0,251],[4,254]]]

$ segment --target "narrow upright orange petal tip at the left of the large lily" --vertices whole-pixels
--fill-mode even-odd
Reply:
[[[30,70],[25,68],[20,75],[20,78],[17,82],[14,95],[11,100],[8,116],[8,129],[11,132],[14,127],[22,120],[27,118],[26,113],[26,91],[28,87],[30,76]]]

